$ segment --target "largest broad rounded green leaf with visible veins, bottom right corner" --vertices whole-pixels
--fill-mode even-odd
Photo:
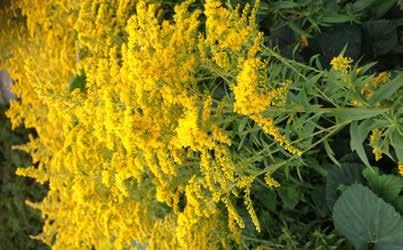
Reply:
[[[396,210],[367,187],[354,184],[337,200],[333,209],[337,231],[355,249],[401,250],[403,219]]]

